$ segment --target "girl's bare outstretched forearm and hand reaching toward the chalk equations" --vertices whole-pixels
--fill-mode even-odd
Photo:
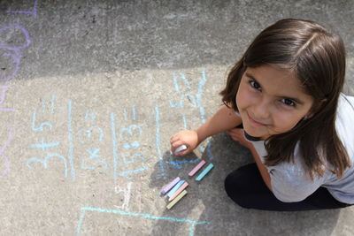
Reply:
[[[171,150],[174,151],[175,148],[186,145],[187,149],[177,154],[178,156],[184,156],[193,151],[206,138],[234,128],[241,123],[241,118],[235,114],[233,109],[222,105],[212,118],[197,128],[196,131],[183,130],[175,133],[171,138]]]

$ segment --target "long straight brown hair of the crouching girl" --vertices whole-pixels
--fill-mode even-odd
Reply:
[[[345,76],[342,38],[311,20],[277,21],[258,34],[229,72],[226,88],[220,92],[223,103],[237,110],[235,96],[243,72],[247,67],[267,64],[293,69],[314,103],[311,118],[302,119],[289,132],[266,140],[265,164],[292,162],[298,151],[311,179],[314,173],[323,176],[326,161],[330,170],[342,177],[350,167],[350,158],[335,131],[337,103]]]

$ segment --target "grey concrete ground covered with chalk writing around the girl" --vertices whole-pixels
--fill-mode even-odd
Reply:
[[[353,208],[242,209],[223,190],[252,162],[225,133],[193,155],[170,136],[220,105],[227,71],[282,18],[342,35],[353,1],[0,0],[0,235],[354,235]],[[215,168],[188,178],[196,158]],[[171,210],[159,191],[189,181]]]

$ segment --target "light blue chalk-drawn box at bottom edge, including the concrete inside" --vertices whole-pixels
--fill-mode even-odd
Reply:
[[[122,225],[121,222],[125,222],[126,225]],[[196,225],[205,224],[209,223],[187,218],[158,217],[123,210],[83,207],[81,208],[76,235],[142,236],[178,234],[193,236]],[[166,231],[166,229],[168,230]]]

